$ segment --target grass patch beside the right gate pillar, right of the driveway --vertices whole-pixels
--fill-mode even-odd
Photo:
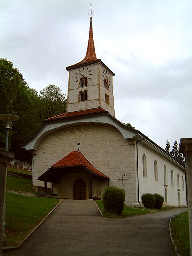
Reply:
[[[180,256],[190,255],[188,212],[172,219],[171,231]]]

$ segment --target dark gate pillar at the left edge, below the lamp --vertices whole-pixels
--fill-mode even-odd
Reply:
[[[7,177],[7,164],[14,158],[14,154],[0,148],[0,255],[3,247],[3,213]]]

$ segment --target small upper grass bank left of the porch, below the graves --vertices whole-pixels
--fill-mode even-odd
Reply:
[[[34,192],[31,188],[30,180],[24,180],[16,177],[7,176],[6,188],[9,190]]]

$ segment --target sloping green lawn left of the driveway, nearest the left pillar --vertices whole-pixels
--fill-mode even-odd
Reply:
[[[60,199],[21,196],[6,192],[6,237],[16,246],[60,202]]]

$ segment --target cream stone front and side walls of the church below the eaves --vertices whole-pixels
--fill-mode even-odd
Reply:
[[[61,126],[60,130],[48,134],[40,143],[33,158],[32,183],[34,186],[44,186],[44,182],[37,178],[42,175],[52,164],[58,162],[72,150],[80,150],[90,163],[107,175],[109,186],[117,186],[126,191],[126,205],[141,203],[144,193],[159,193],[167,200],[165,205],[186,206],[186,182],[184,168],[174,164],[170,156],[164,157],[158,150],[152,150],[143,142],[136,143],[136,139],[125,139],[122,136],[125,130],[118,130],[112,124],[103,123],[74,123],[70,126]],[[127,135],[132,134],[127,130]],[[133,134],[132,134],[133,136]],[[135,137],[135,136],[133,136]],[[137,171],[137,146],[138,146],[138,171]],[[161,152],[161,151],[160,151]],[[143,176],[142,156],[146,157],[146,177]],[[158,179],[154,177],[154,161],[157,162]],[[166,166],[166,184],[164,183],[164,166]],[[173,184],[171,182],[173,171]],[[139,174],[139,177],[137,176]],[[177,184],[179,175],[179,186]],[[53,193],[61,198],[73,198],[74,182],[77,179],[86,182],[86,199],[89,198],[90,180],[92,180],[92,196],[102,197],[108,181],[98,181],[89,173],[65,174],[60,184],[53,184]],[[139,181],[139,186],[138,186]],[[173,186],[172,186],[173,185]],[[48,184],[51,187],[51,184]],[[179,193],[179,198],[178,198]]]

